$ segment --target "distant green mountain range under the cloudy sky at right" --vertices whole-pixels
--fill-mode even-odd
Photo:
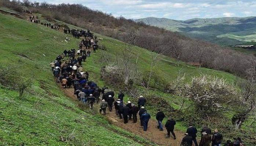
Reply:
[[[245,18],[194,18],[185,21],[149,17],[136,19],[135,21],[178,31],[189,37],[204,39],[220,45],[256,42],[256,17],[253,16]]]

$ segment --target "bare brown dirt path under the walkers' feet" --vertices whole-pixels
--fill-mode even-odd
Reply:
[[[73,95],[74,90],[73,88],[69,89],[63,89],[65,94],[72,98],[73,100],[77,100],[77,97]],[[98,104],[95,104],[95,109],[98,108]],[[107,109],[107,119],[114,124],[115,126],[121,127],[129,132],[132,132],[134,134],[140,135],[143,138],[149,139],[150,141],[153,141],[157,143],[158,145],[162,146],[179,146],[180,142],[182,141],[183,132],[180,131],[174,131],[176,134],[177,139],[171,138],[165,138],[165,135],[167,134],[167,131],[160,131],[157,129],[157,121],[150,119],[149,120],[149,127],[147,131],[143,131],[143,127],[140,126],[140,121],[138,119],[137,123],[132,123],[132,120],[129,120],[127,124],[123,123],[122,119],[119,119],[119,117],[115,114],[115,111],[109,112]],[[171,135],[172,136],[172,135]]]

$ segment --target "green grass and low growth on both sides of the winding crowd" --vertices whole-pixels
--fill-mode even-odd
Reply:
[[[41,22],[47,21],[44,20],[44,18],[47,18],[44,15],[36,15],[43,16],[40,17]],[[74,143],[83,145],[88,142],[91,142],[91,145],[110,145],[110,142],[111,145],[154,145],[154,143],[138,137],[138,135],[111,125],[103,116],[96,114],[95,111],[89,111],[83,105],[67,98],[56,85],[49,63],[64,49],[77,46],[80,39],[70,38],[71,35],[12,16],[1,14],[0,18],[4,20],[0,22],[4,31],[0,34],[0,37],[3,38],[0,41],[0,45],[3,46],[3,49],[0,50],[1,65],[3,68],[11,66],[14,68],[14,72],[17,72],[16,74],[33,82],[32,88],[26,91],[23,98],[18,97],[16,90],[8,88],[4,84],[1,85],[1,91],[3,91],[5,97],[4,104],[1,105],[1,108],[3,107],[1,112],[4,113],[1,117],[4,119],[1,126],[5,130],[1,131],[0,137],[4,139],[4,143],[20,145],[22,143],[14,141],[14,138],[18,138],[21,141],[25,139],[23,142],[28,145],[40,142],[52,145],[61,145],[63,142],[67,145]],[[58,20],[52,21],[65,24]],[[70,24],[67,25],[70,28],[74,28]],[[105,84],[109,85],[115,91],[122,88],[111,84],[109,82],[111,80],[100,79],[100,70],[102,66],[116,65],[118,61],[125,59],[120,57],[122,54],[132,54],[132,62],[136,62],[136,68],[138,68],[140,79],[142,79],[137,81],[139,84],[134,85],[136,88],[136,91],[133,92],[136,93],[134,96],[138,97],[138,95],[143,94],[147,97],[150,101],[147,108],[152,116],[156,113],[157,108],[161,107],[165,113],[176,118],[178,121],[176,128],[179,130],[184,131],[188,122],[192,121],[197,124],[196,122],[201,119],[191,119],[194,116],[190,114],[196,114],[194,112],[197,111],[187,111],[192,104],[190,100],[183,96],[167,93],[167,89],[174,84],[173,82],[176,81],[177,77],[184,74],[184,82],[188,84],[192,80],[191,77],[194,76],[198,78],[201,75],[219,77],[224,78],[226,80],[225,84],[229,86],[236,84],[238,79],[238,77],[226,72],[208,68],[195,68],[182,61],[129,45],[117,39],[96,33],[94,35],[103,38],[99,45],[100,48],[105,48],[106,50],[98,50],[97,53],[92,53],[92,57],[89,57],[86,64],[83,65],[90,73],[91,80],[97,82],[100,87]],[[69,42],[64,41],[66,37],[70,38]],[[140,84],[147,81],[149,82],[148,88],[146,84]],[[129,93],[129,90],[127,92],[129,96],[125,97],[125,101],[129,98],[129,100],[136,102],[136,98],[132,96],[132,93]],[[17,105],[19,105],[19,108],[17,108]],[[224,105],[224,107],[229,106]],[[10,112],[12,109],[14,109],[13,113]],[[225,133],[225,139],[241,136],[252,140],[247,140],[246,142],[255,144],[255,135],[253,135],[255,131],[251,128],[254,125],[248,126],[254,122],[252,120],[246,121],[241,127],[242,130],[230,130],[232,128],[231,119],[234,115],[234,108],[225,110],[227,111],[223,112],[223,115],[218,115],[219,118],[221,117],[221,122],[218,121],[218,125],[211,125],[211,128],[223,126],[217,128],[220,128]],[[29,121],[34,122],[30,123]],[[44,124],[40,123],[42,121]],[[68,124],[67,121],[69,121]],[[202,122],[199,122],[199,124]],[[31,134],[27,135],[30,132]],[[13,133],[15,133],[14,138],[10,137]],[[51,135],[51,137],[46,137],[47,139],[45,139],[45,135]],[[27,136],[36,138],[31,141],[26,139]],[[109,139],[113,139],[114,142],[109,141]]]

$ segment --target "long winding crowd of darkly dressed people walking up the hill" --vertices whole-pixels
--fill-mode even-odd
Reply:
[[[51,26],[51,24],[50,24]],[[69,30],[67,30],[69,32]],[[67,33],[67,31],[64,31]],[[99,104],[99,112],[106,115],[107,108],[109,113],[113,112],[113,106],[115,114],[123,119],[124,123],[128,123],[131,120],[133,123],[137,123],[137,115],[139,115],[140,125],[143,126],[143,130],[147,131],[149,120],[151,115],[146,110],[146,98],[140,96],[137,104],[131,101],[124,102],[124,93],[120,91],[115,100],[115,93],[113,90],[107,87],[98,87],[96,82],[89,80],[89,73],[84,70],[83,64],[87,57],[90,57],[91,51],[98,49],[97,37],[87,30],[71,30],[70,33],[76,38],[83,37],[79,43],[79,49],[72,48],[70,50],[64,50],[63,53],[58,55],[55,61],[50,63],[53,75],[56,82],[60,82],[63,88],[74,89],[74,95],[77,100],[88,105],[93,109],[95,103]],[[168,117],[167,122],[163,127],[163,120],[166,118],[164,112],[160,109],[156,114],[158,122],[157,128],[160,131],[164,131],[164,127],[167,130],[166,138],[170,138],[171,134],[173,139],[176,139],[174,132],[176,121],[172,117]],[[211,129],[207,126],[202,127],[201,140],[197,143],[197,128],[192,124],[189,124],[189,128],[180,143],[180,146],[220,146],[223,143],[223,136],[215,129],[212,133]],[[243,146],[241,138],[236,138],[235,142],[227,141],[224,146]]]

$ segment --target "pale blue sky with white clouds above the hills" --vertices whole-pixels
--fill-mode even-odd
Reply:
[[[132,19],[158,17],[186,20],[256,16],[256,0],[39,0],[42,1],[79,3],[113,16]]]

